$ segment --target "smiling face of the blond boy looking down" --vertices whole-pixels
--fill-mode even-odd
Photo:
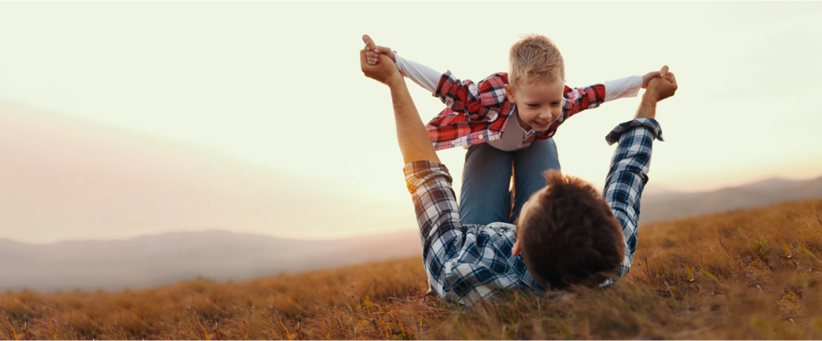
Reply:
[[[508,100],[516,104],[520,126],[525,130],[543,132],[562,113],[562,93],[565,80],[538,81],[514,87],[506,84]]]

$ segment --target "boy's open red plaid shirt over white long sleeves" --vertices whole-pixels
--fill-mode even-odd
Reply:
[[[460,81],[450,71],[442,74],[433,96],[440,97],[447,108],[425,125],[434,149],[467,146],[493,141],[502,137],[508,124],[519,124],[512,113],[516,105],[508,101],[505,85],[508,74],[499,72],[483,79],[479,84]],[[570,116],[582,110],[598,107],[605,101],[605,86],[566,86],[563,93],[562,114],[544,132],[529,133],[523,147],[554,136],[556,128]]]

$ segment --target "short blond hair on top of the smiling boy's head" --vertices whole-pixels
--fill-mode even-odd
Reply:
[[[508,54],[511,86],[565,79],[565,63],[556,44],[544,35],[522,35]]]

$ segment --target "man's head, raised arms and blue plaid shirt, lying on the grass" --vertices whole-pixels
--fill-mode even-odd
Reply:
[[[367,44],[367,36],[363,37]],[[677,82],[649,82],[635,119],[606,137],[619,142],[604,198],[582,180],[556,172],[523,206],[518,227],[495,222],[463,225],[451,176],[436,156],[411,100],[404,77],[385,55],[370,65],[365,49],[360,68],[390,88],[397,140],[405,163],[423,242],[428,284],[445,299],[471,304],[498,289],[544,292],[571,284],[610,286],[630,269],[636,246],[640,194],[648,181],[653,139],[662,140],[654,119],[656,103],[673,96]],[[670,81],[668,80],[670,79]]]

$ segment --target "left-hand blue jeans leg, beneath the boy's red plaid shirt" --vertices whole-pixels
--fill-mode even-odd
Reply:
[[[511,157],[511,152],[487,143],[469,147],[459,195],[459,216],[463,224],[509,222]]]

